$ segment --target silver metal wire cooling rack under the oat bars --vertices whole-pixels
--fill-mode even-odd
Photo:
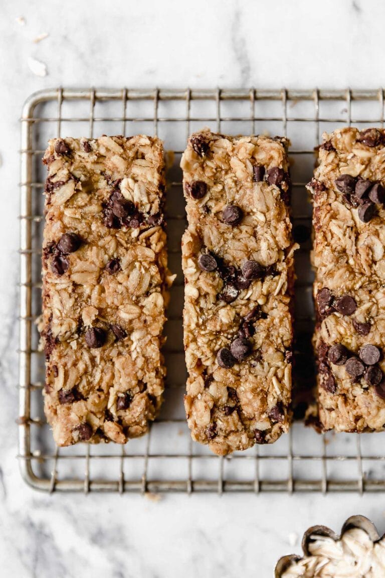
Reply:
[[[313,308],[309,261],[311,206],[305,183],[323,131],[343,125],[384,124],[384,91],[291,90],[43,90],[28,98],[21,118],[21,287],[19,460],[27,483],[39,490],[114,492],[383,491],[385,433],[317,434],[299,420],[271,446],[217,457],[190,439],[183,395],[183,276],[180,244],[185,228],[179,162],[186,138],[205,126],[232,135],[265,133],[291,140],[296,254],[295,412],[301,417],[313,386]],[[49,138],[102,134],[157,134],[168,152],[169,262],[171,290],[165,346],[165,402],[150,432],[125,446],[58,449],[43,413],[44,355],[38,350],[41,312],[41,246]]]

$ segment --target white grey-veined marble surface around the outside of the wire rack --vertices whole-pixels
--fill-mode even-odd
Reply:
[[[25,18],[25,25],[17,17]],[[5,578],[272,576],[312,524],[351,514],[385,531],[382,495],[47,495],[20,479],[17,427],[18,118],[57,86],[378,87],[381,0],[12,0],[0,6],[0,574]],[[36,36],[48,38],[33,43]],[[28,57],[47,65],[38,77]]]

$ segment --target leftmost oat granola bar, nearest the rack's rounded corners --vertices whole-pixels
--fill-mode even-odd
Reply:
[[[162,402],[162,142],[53,139],[43,162],[44,409],[59,446],[125,443]]]

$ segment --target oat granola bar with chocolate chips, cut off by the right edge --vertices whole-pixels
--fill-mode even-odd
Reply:
[[[324,135],[309,183],[317,397],[324,429],[385,424],[385,131]]]

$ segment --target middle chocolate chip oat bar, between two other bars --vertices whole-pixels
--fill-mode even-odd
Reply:
[[[274,442],[290,424],[287,140],[193,134],[182,156],[185,409],[217,454]]]

